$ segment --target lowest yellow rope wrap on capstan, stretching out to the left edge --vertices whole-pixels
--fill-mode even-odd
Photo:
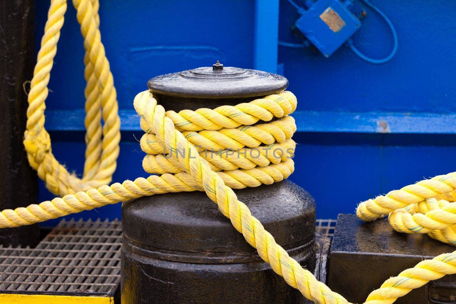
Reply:
[[[227,185],[235,189],[256,187],[261,184],[270,185],[286,179],[293,173],[293,161],[270,165],[250,170],[232,170],[218,172]],[[186,172],[175,175],[151,175],[147,179],[137,178],[134,181],[125,180],[122,184],[103,185],[98,189],[69,194],[52,201],[44,201],[39,205],[19,207],[15,210],[5,209],[0,212],[0,228],[19,227],[44,222],[49,219],[66,216],[96,207],[128,201],[141,196],[151,196],[168,192],[203,191],[194,178]]]

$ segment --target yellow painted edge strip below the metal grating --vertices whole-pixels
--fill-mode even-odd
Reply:
[[[49,294],[0,294],[1,304],[114,304],[112,297],[79,297]]]

